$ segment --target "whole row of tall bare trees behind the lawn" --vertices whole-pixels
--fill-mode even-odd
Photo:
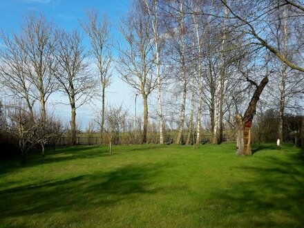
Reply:
[[[202,132],[215,144],[233,131],[238,154],[251,154],[252,124],[265,129],[265,118],[255,115],[278,113],[272,140],[281,142],[295,131],[285,127],[285,117],[303,116],[303,16],[297,0],[137,0],[120,22],[122,39],[113,41],[114,26],[97,10],[86,11],[86,20],[72,31],[30,13],[19,32],[1,32],[1,85],[12,97],[4,108],[7,129],[16,126],[30,135],[34,128],[44,148],[47,126],[57,126],[48,124],[57,120],[48,116],[46,103],[61,91],[71,111],[71,144],[77,108],[99,95],[100,114],[88,129],[106,135],[110,147],[126,126],[148,142],[150,118],[160,144],[168,132],[175,132],[175,144],[199,144]],[[142,98],[139,118],[106,96],[114,73],[133,88],[135,99]]]

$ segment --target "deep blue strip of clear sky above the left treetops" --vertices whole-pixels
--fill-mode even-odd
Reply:
[[[0,5],[0,26],[2,29],[17,28],[22,15],[28,11],[42,12],[63,28],[75,28],[77,19],[84,18],[84,10],[96,8],[106,13],[113,23],[129,10],[129,0],[4,0]]]

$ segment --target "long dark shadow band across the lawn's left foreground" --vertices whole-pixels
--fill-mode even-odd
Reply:
[[[0,191],[0,221],[35,213],[79,211],[110,207],[116,203],[151,194],[146,180],[156,175],[158,167],[127,166],[108,173],[79,175],[66,180],[41,182]],[[1,222],[0,222],[1,223]]]

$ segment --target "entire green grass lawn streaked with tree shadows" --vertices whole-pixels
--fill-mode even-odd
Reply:
[[[0,227],[304,227],[303,153],[76,146],[0,162]]]

